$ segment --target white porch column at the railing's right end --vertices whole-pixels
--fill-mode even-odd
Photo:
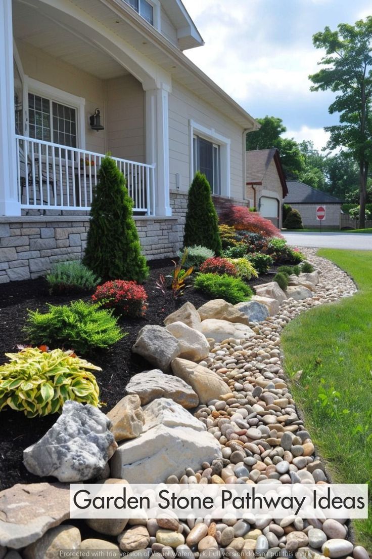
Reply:
[[[146,160],[156,163],[155,214],[172,215],[169,198],[168,88],[146,91]]]

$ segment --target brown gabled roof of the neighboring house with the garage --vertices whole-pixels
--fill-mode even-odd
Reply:
[[[277,148],[254,149],[245,152],[245,181],[247,184],[262,184],[270,163],[274,160],[282,184],[283,198],[287,195],[286,177]]]

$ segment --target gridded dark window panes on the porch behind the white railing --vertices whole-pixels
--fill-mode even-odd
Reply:
[[[30,138],[77,146],[76,108],[28,93],[28,126]]]

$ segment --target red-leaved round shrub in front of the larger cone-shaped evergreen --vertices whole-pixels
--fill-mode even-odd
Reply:
[[[106,309],[115,309],[123,316],[143,316],[147,309],[147,293],[135,281],[107,281],[91,296]]]

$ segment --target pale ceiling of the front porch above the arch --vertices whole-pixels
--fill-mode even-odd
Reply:
[[[110,55],[21,0],[13,0],[13,34],[15,39],[97,78],[110,79],[128,74]]]

